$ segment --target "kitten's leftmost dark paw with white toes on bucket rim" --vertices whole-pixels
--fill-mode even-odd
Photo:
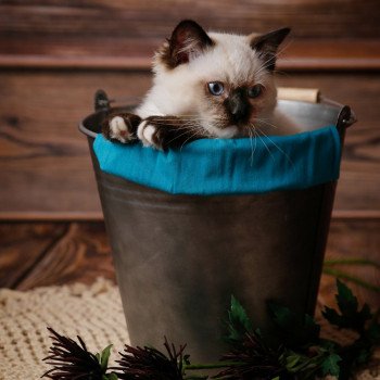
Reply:
[[[134,114],[110,115],[103,123],[102,132],[110,140],[123,143],[137,139],[137,126],[141,118]]]

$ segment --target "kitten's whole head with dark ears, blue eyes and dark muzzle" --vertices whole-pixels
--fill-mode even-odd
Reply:
[[[216,137],[246,136],[276,105],[274,69],[289,28],[266,35],[206,34],[182,21],[155,56],[160,107]]]

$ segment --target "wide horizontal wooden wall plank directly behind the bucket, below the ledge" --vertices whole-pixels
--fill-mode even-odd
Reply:
[[[380,215],[380,77],[287,73],[278,81],[319,87],[352,104],[360,122],[347,132],[335,212]],[[92,112],[97,88],[137,102],[151,84],[150,73],[8,69],[0,83],[0,218],[100,218],[87,141],[77,124]]]

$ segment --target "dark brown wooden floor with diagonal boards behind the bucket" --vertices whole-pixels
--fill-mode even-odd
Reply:
[[[377,259],[380,246],[377,220],[334,219],[328,256]],[[0,223],[0,288],[28,290],[73,282],[92,283],[101,276],[115,281],[110,244],[100,221]],[[379,271],[370,266],[338,266],[351,275],[380,286]],[[380,307],[379,294],[353,283],[360,302]],[[319,303],[333,305],[335,281],[324,275]]]

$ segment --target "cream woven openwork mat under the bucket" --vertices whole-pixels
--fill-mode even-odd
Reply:
[[[0,379],[37,380],[47,370],[41,362],[50,347],[47,326],[71,338],[80,335],[91,352],[113,343],[113,355],[128,343],[117,288],[104,279],[92,286],[38,288],[27,292],[0,289]],[[340,340],[333,329],[325,334]],[[113,360],[111,360],[113,362]],[[380,367],[357,375],[360,380],[380,380]]]

